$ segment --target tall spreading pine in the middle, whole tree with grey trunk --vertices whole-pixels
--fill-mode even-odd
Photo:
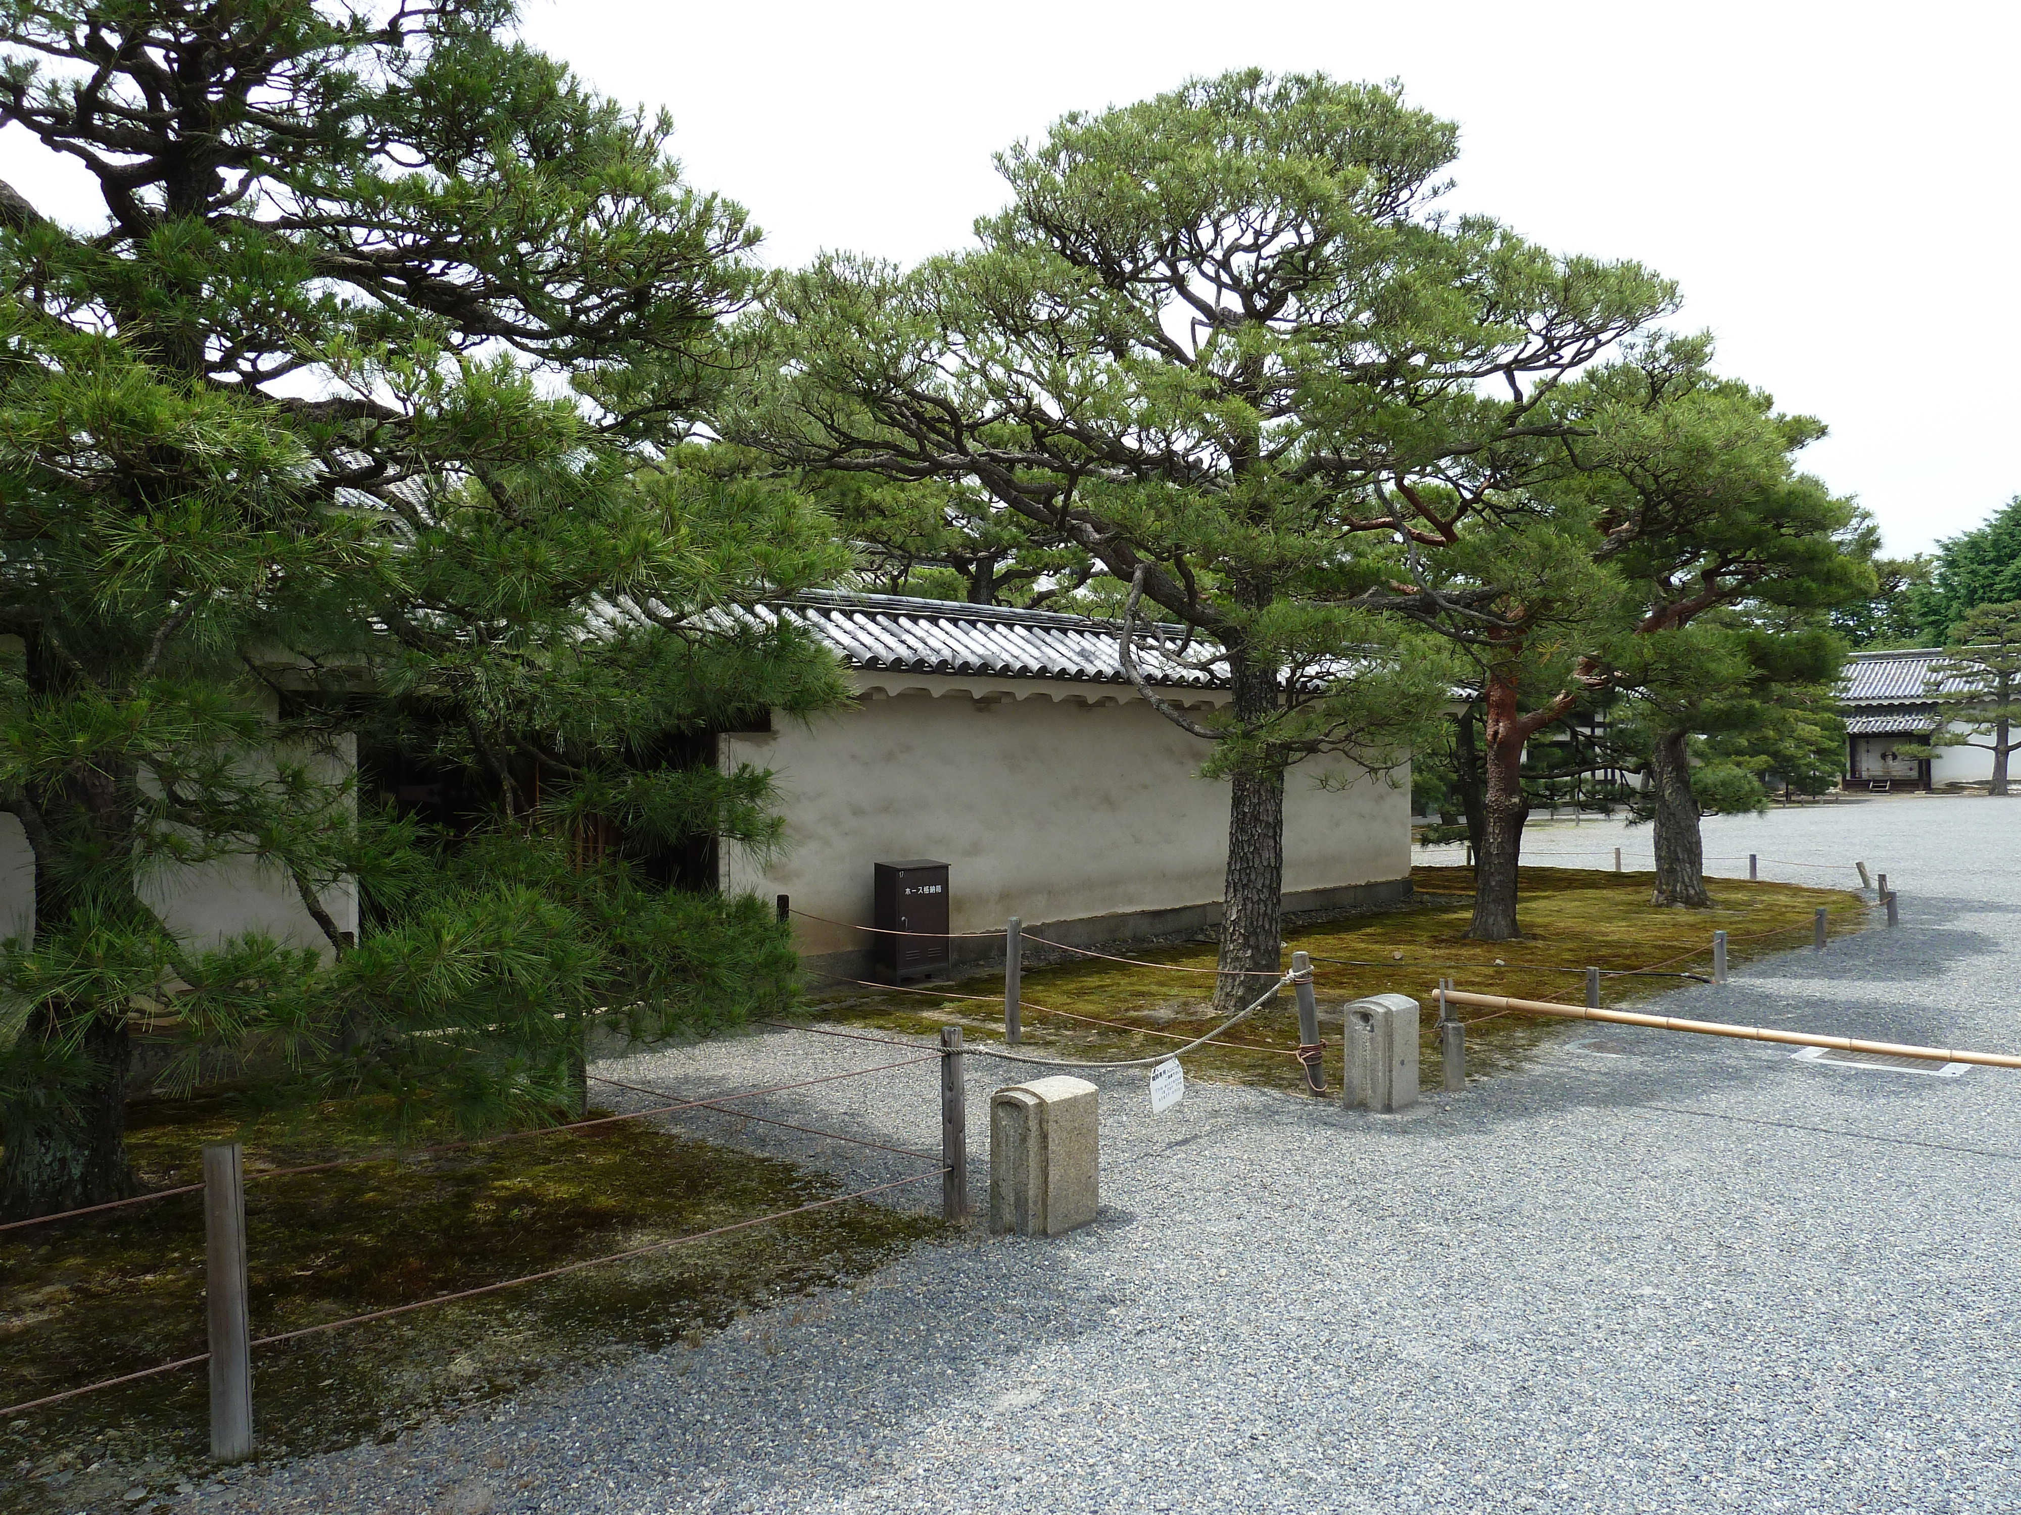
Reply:
[[[1394,764],[1449,697],[1376,614],[1437,598],[1409,556],[1449,549],[1498,448],[1558,428],[1552,386],[1673,301],[1439,214],[1455,154],[1397,87],[1318,75],[1067,115],[998,156],[980,250],[780,281],[776,382],[726,416],[804,467],[980,487],[1219,646],[1231,703],[1166,713],[1231,786],[1223,1004],[1279,962],[1287,772]]]

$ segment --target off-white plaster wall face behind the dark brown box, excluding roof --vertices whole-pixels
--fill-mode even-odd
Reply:
[[[982,701],[976,699],[982,695]],[[1089,699],[1099,703],[1087,703]],[[1229,786],[1198,778],[1207,743],[1142,699],[1087,685],[916,679],[812,725],[724,739],[724,762],[770,768],[786,848],[726,856],[724,885],[792,895],[800,911],[871,921],[871,865],[950,865],[954,931],[1211,905],[1223,893]],[[1332,764],[1334,772],[1348,772]],[[1285,891],[1403,879],[1411,788],[1354,770],[1285,788]],[[859,931],[796,921],[804,953],[863,947]]]

